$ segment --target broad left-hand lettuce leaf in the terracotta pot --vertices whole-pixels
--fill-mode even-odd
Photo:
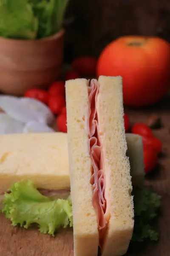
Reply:
[[[35,39],[38,20],[26,0],[0,1],[0,37]]]

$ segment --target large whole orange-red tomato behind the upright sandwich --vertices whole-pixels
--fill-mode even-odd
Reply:
[[[161,38],[125,36],[99,56],[97,76],[122,76],[125,105],[151,105],[170,86],[170,44]]]

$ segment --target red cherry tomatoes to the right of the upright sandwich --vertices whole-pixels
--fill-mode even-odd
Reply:
[[[125,131],[130,131],[130,120],[127,114],[124,115]],[[144,151],[144,171],[152,172],[158,162],[158,155],[162,150],[162,143],[153,136],[151,128],[144,123],[136,123],[132,126],[131,132],[142,136]]]

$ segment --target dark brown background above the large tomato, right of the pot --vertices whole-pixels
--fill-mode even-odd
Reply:
[[[79,55],[97,57],[122,35],[170,41],[170,0],[70,0],[64,26],[68,62]]]

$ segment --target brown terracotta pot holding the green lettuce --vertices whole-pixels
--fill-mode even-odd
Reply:
[[[0,91],[22,96],[32,87],[47,88],[59,78],[64,30],[41,40],[0,38]]]

